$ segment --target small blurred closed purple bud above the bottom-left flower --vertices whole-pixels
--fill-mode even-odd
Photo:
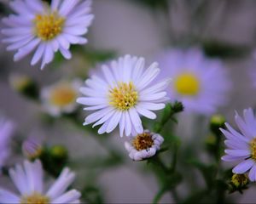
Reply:
[[[22,144],[23,154],[30,160],[41,156],[42,150],[42,144],[36,138],[28,138]]]

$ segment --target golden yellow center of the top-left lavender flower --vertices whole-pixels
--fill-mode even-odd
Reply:
[[[49,41],[58,36],[65,23],[65,19],[56,12],[51,14],[38,14],[33,21],[36,35],[44,41]]]

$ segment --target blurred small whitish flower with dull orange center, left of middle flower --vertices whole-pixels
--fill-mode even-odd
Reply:
[[[82,82],[61,81],[43,88],[41,93],[44,109],[51,116],[60,116],[61,113],[71,113],[78,106],[76,99],[79,96],[79,87]]]

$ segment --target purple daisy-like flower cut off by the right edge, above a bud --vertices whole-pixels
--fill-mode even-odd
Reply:
[[[241,174],[249,172],[249,179],[256,180],[256,118],[251,108],[243,111],[243,117],[236,113],[236,125],[240,132],[230,127],[229,123],[225,123],[227,130],[220,128],[226,140],[224,143],[227,149],[224,151],[224,161],[239,162],[233,168],[233,173]]]

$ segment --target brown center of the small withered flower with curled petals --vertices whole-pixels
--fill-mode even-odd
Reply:
[[[136,150],[147,150],[154,145],[154,140],[150,133],[137,134],[136,138],[133,139],[132,145]]]

